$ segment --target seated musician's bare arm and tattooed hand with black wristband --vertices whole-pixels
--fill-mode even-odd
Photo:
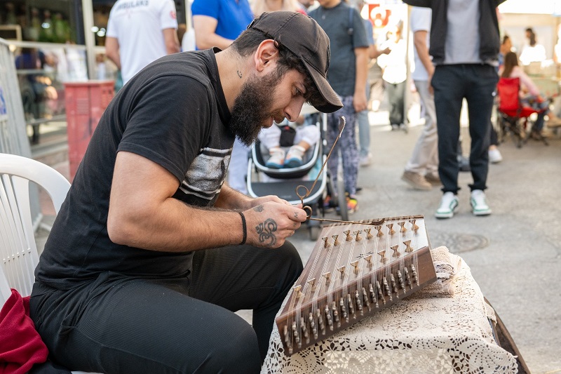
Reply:
[[[174,199],[179,185],[172,173],[154,161],[119,152],[107,216],[109,239],[126,246],[166,252],[241,243],[243,229],[238,213],[194,208]],[[246,243],[277,248],[306,220],[306,213],[297,207],[267,201],[261,208],[251,208],[250,199],[245,199],[249,205],[243,209]]]

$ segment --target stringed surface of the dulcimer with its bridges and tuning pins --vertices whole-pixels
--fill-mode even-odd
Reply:
[[[283,328],[290,340],[289,352],[316,341],[315,335],[330,335],[329,330],[340,328],[345,320],[360,320],[372,309],[396,302],[419,286],[418,250],[429,246],[424,220],[404,216],[377,223],[382,222],[372,228],[370,239],[360,229],[363,222],[323,228],[323,238],[306,265],[309,271],[290,298],[288,326]]]

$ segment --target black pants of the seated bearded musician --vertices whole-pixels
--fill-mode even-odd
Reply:
[[[35,283],[31,316],[51,359],[71,370],[258,373],[301,272],[290,243],[196,251],[192,273],[176,279],[104,272],[72,290]],[[253,326],[239,309],[253,309]]]

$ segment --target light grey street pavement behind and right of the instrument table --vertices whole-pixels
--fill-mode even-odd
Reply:
[[[561,373],[561,138],[549,146],[530,141],[522,149],[506,140],[500,147],[503,161],[489,170],[493,214],[471,214],[471,175],[461,173],[459,213],[436,220],[440,190],[416,191],[400,180],[421,126],[407,134],[392,132],[386,112],[370,115],[374,161],[360,168],[360,210],[351,218],[424,215],[433,247],[447,246],[464,258],[532,373]],[[56,167],[67,173],[67,163]],[[314,244],[308,232],[300,229],[292,239],[306,261]],[[43,241],[44,232],[40,246]]]

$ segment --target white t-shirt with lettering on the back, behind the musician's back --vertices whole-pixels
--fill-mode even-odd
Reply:
[[[107,36],[119,40],[123,83],[167,54],[163,29],[177,29],[173,0],[118,0],[111,8]]]

